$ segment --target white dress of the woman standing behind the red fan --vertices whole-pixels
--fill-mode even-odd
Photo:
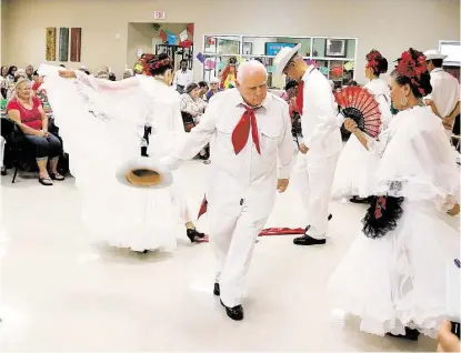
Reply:
[[[382,115],[381,131],[385,130],[392,114],[390,91],[381,79],[374,79],[364,85],[379,103]],[[371,138],[369,138],[371,140]],[[338,160],[334,172],[332,199],[340,200],[353,195],[367,198],[372,193],[373,175],[378,158],[363,149],[355,135],[351,134]]]

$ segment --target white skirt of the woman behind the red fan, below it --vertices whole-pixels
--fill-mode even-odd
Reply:
[[[372,195],[378,162],[379,159],[351,134],[338,160],[332,199],[341,200],[353,195],[360,198]]]

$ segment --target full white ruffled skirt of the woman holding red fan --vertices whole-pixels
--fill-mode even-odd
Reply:
[[[404,334],[407,326],[433,337],[448,314],[447,273],[460,236],[433,208],[402,208],[394,231],[352,243],[329,280],[333,312],[359,316],[360,330],[371,334]]]

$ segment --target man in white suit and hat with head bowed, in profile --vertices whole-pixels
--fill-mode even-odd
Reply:
[[[342,149],[337,124],[337,108],[328,79],[298,53],[301,44],[282,48],[275,57],[279,74],[299,82],[297,108],[301,114],[302,142],[294,171],[299,194],[307,210],[303,236],[297,245],[327,242],[331,186],[338,157]]]

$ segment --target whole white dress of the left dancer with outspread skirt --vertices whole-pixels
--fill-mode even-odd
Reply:
[[[48,65],[40,67],[40,73],[46,75],[50,105],[70,155],[87,230],[118,248],[173,250],[181,228],[172,188],[137,189],[116,179],[121,165],[141,158],[147,123],[157,123],[153,144],[161,147],[152,150],[152,164],[159,164],[164,149],[174,144],[151,113],[153,102],[161,100],[158,82],[147,77],[111,82],[82,72],[68,80]]]

